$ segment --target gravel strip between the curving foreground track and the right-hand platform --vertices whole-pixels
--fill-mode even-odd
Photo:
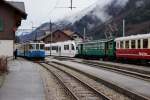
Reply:
[[[63,67],[63,66],[59,66],[59,68],[63,68],[64,70],[66,70],[67,72],[76,75],[77,77],[80,77],[80,79],[84,80],[86,83],[89,83],[90,85],[92,85],[94,88],[96,88],[98,91],[101,91],[102,93],[104,93],[106,96],[110,97],[112,100],[131,100],[130,98],[106,87],[105,85],[96,82],[93,79],[88,78],[87,76],[80,74],[76,71],[73,71],[69,68]]]

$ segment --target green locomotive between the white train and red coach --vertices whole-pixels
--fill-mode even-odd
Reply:
[[[115,58],[114,40],[98,40],[78,44],[78,56],[86,58]]]

